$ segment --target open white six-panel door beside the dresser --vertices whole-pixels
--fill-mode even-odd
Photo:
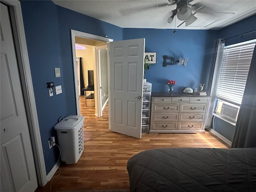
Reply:
[[[110,42],[110,129],[141,138],[145,39]]]

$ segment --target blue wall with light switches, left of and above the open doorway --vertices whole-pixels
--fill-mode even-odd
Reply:
[[[122,40],[122,28],[56,6],[52,1],[20,1],[46,173],[58,160],[58,148],[49,149],[50,136],[60,116],[76,114],[71,29]],[[55,78],[54,67],[61,77]],[[62,94],[49,97],[46,82],[62,85]]]

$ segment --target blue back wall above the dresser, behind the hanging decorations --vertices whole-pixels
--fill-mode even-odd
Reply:
[[[184,88],[207,88],[215,31],[173,29],[134,29],[124,28],[124,39],[146,38],[145,52],[157,52],[157,64],[146,71],[145,78],[152,83],[153,92],[166,92],[167,80],[176,80],[174,92]],[[162,67],[163,55],[174,56],[175,60],[189,58],[187,66],[168,65]]]

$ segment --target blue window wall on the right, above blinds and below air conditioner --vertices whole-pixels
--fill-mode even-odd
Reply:
[[[256,15],[251,16],[245,20],[232,24],[226,28],[217,31],[217,38],[230,38],[246,32],[256,30]],[[248,40],[256,39],[256,32],[243,35],[242,37],[235,37],[226,40],[225,45],[236,44]],[[212,127],[213,128],[213,127]],[[214,118],[215,131],[232,141],[235,126],[218,118]]]

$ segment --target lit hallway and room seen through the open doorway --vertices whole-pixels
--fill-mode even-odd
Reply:
[[[79,102],[101,117],[108,102],[107,43],[75,36]],[[81,111],[80,111],[81,112]]]

